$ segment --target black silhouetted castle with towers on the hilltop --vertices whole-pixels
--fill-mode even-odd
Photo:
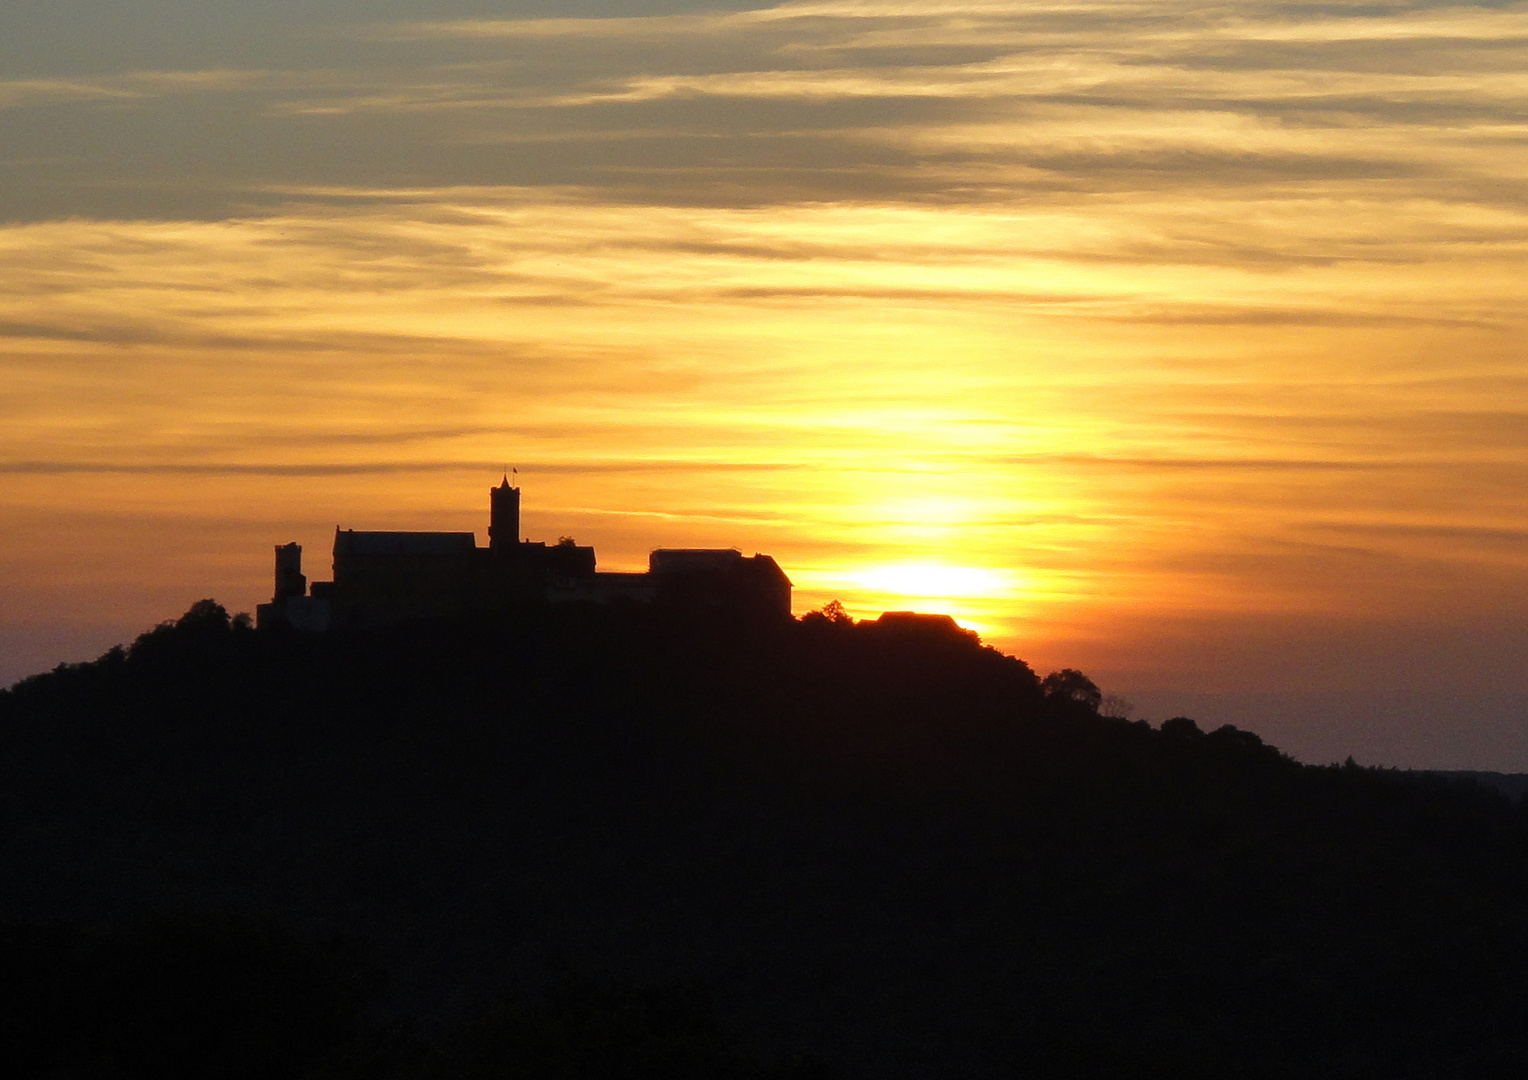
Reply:
[[[542,603],[646,603],[752,619],[790,617],[790,579],[767,555],[659,548],[646,573],[604,573],[594,548],[520,538],[520,489],[489,490],[489,544],[474,533],[335,529],[333,580],[303,574],[303,545],[277,545],[275,596],[255,625],[329,631]]]

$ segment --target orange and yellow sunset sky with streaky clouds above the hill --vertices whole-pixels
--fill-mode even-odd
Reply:
[[[1528,5],[6,0],[0,683],[336,525],[1528,771]]]

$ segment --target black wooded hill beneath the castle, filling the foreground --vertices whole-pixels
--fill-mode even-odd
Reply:
[[[53,1077],[1528,1075],[1525,825],[1100,718],[960,634],[301,637],[200,605],[0,694],[0,1048]]]

